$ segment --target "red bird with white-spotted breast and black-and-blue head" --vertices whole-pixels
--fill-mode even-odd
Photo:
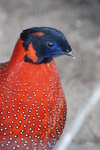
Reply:
[[[74,58],[65,35],[52,27],[21,32],[0,64],[0,150],[52,150],[67,117],[55,57]]]

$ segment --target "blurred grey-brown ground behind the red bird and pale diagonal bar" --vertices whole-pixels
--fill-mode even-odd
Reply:
[[[0,0],[0,62],[10,59],[20,32],[34,26],[61,30],[76,56],[55,59],[68,103],[65,134],[100,84],[100,0]],[[100,101],[69,145],[73,149],[100,150]]]

